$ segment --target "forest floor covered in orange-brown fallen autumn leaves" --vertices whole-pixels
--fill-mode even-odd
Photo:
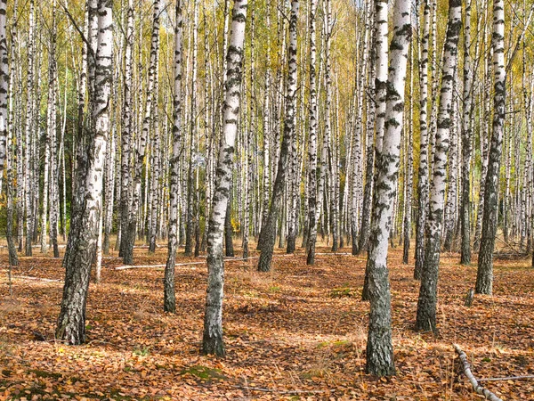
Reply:
[[[61,250],[62,251],[62,250]],[[238,249],[238,255],[239,255]],[[340,252],[349,250],[341,250]],[[53,340],[60,311],[61,260],[20,258],[7,285],[0,254],[0,399],[360,399],[470,400],[458,375],[457,343],[477,378],[534,374],[534,269],[529,260],[495,262],[494,295],[476,295],[476,265],[443,254],[439,285],[440,335],[413,331],[418,282],[413,264],[391,250],[393,343],[397,375],[365,374],[368,302],[360,300],[365,256],[328,255],[315,266],[303,250],[279,250],[271,273],[257,259],[226,263],[224,339],[227,356],[200,356],[206,266],[176,266],[177,313],[163,312],[163,267],[115,270],[104,258],[102,281],[91,283],[87,342]],[[254,257],[255,255],[253,255]],[[184,258],[177,263],[205,259]],[[135,253],[136,265],[164,264]],[[32,278],[38,278],[32,279]],[[43,280],[45,279],[45,280]],[[505,400],[534,400],[534,380],[488,381]]]

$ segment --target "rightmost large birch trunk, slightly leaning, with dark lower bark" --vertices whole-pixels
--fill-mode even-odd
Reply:
[[[493,291],[493,250],[498,225],[498,177],[506,112],[505,69],[505,2],[493,1],[493,73],[494,115],[491,135],[488,175],[484,191],[484,215],[482,217],[481,249],[475,292],[491,295]]]

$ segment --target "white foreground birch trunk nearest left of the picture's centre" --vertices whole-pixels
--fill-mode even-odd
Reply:
[[[232,158],[238,131],[239,98],[243,65],[243,45],[247,20],[247,0],[236,0],[232,13],[231,39],[226,57],[226,90],[224,99],[223,135],[217,174],[214,185],[214,201],[207,232],[207,294],[202,353],[224,355],[223,343],[223,228],[226,204],[231,187]]]

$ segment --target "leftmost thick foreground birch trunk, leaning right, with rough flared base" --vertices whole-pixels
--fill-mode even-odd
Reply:
[[[85,306],[89,287],[91,263],[98,239],[101,217],[103,167],[106,139],[109,135],[109,94],[113,78],[113,17],[112,1],[99,0],[98,45],[94,82],[92,118],[94,128],[88,137],[89,157],[85,196],[81,208],[80,229],[77,239],[70,241],[61,313],[58,318],[56,338],[77,345],[85,341]],[[71,233],[72,234],[72,233]]]

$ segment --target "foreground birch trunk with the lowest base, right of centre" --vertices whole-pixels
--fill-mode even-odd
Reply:
[[[385,23],[387,3],[376,1],[376,23]],[[382,29],[377,28],[384,32]],[[387,268],[388,240],[392,225],[392,203],[397,192],[401,146],[402,117],[404,111],[404,80],[411,37],[411,2],[397,1],[393,11],[393,37],[390,47],[390,67],[387,80],[384,139],[376,147],[376,181],[373,216],[370,226],[368,250],[368,296],[370,301],[366,371],[376,376],[395,374],[392,345],[392,315],[389,271]],[[377,42],[385,37],[377,39]],[[384,52],[378,45],[377,53]],[[382,54],[381,59],[384,57]],[[387,66],[387,62],[386,62]],[[378,65],[376,87],[384,87],[384,66]],[[387,67],[385,67],[387,68]],[[382,114],[379,112],[379,114]],[[378,141],[377,141],[378,142]]]

